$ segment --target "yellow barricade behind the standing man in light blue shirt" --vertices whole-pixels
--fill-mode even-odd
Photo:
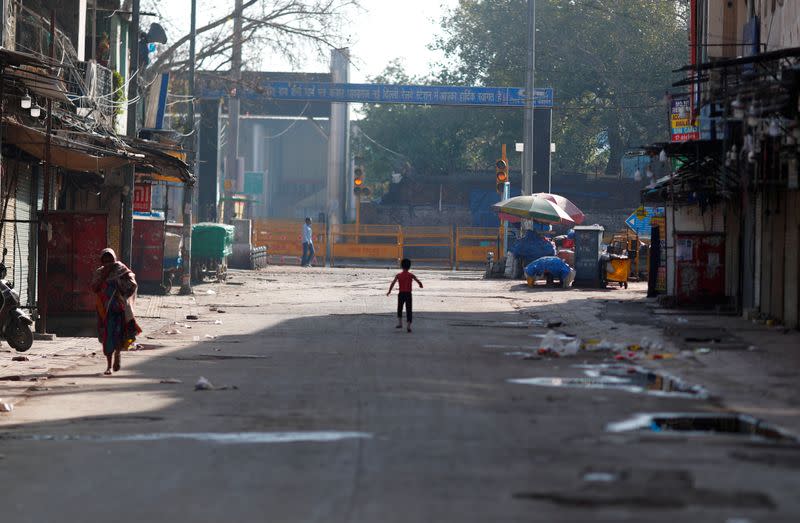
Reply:
[[[325,264],[327,238],[325,226],[314,224],[314,255],[316,264]],[[298,262],[303,255],[303,222],[292,220],[257,219],[253,220],[253,246],[266,247],[271,263],[287,263],[294,258]]]

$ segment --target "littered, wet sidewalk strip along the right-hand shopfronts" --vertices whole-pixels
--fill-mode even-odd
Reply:
[[[800,435],[800,332],[738,316],[662,310],[646,284],[628,290],[533,290],[515,306],[582,340],[663,346],[665,359],[637,361],[700,384],[725,410],[750,414]],[[651,351],[652,353],[652,351]]]

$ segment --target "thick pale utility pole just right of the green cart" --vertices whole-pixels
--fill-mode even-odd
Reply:
[[[236,0],[233,13],[233,50],[231,54],[231,91],[228,96],[228,142],[227,161],[225,162],[225,205],[223,223],[231,223],[233,219],[233,193],[239,157],[239,88],[242,80],[242,0]]]

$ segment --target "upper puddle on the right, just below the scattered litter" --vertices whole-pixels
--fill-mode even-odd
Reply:
[[[522,378],[508,380],[521,385],[612,389],[633,393],[705,399],[708,391],[699,385],[684,383],[678,378],[632,365],[577,365],[586,377]]]

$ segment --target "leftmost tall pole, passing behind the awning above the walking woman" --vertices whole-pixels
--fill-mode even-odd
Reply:
[[[136,132],[136,97],[139,96],[139,0],[133,0],[131,6],[131,25],[128,28],[128,46],[131,51],[128,67],[128,125],[127,134],[137,138]],[[128,265],[131,263],[133,245],[133,188],[136,183],[133,164],[125,170],[125,185],[122,191],[122,238],[120,257]],[[127,189],[127,190],[126,190]]]

